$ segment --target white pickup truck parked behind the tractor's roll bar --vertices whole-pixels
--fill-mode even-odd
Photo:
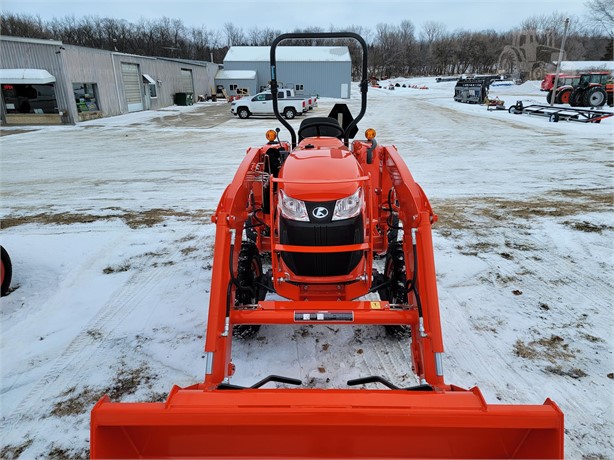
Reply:
[[[290,97],[291,93],[280,89],[277,97],[277,108],[285,118],[292,119],[309,110],[308,102],[303,98]],[[270,91],[263,91],[252,97],[243,97],[232,101],[230,111],[239,118],[248,118],[250,115],[273,115],[273,95]]]

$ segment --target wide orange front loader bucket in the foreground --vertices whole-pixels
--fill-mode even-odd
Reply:
[[[563,458],[563,414],[471,391],[175,387],[92,411],[91,458]]]

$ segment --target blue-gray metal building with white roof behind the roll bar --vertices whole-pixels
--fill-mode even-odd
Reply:
[[[349,98],[352,60],[347,46],[280,46],[276,51],[277,81],[296,93]],[[270,47],[233,46],[224,58],[224,71],[255,71],[257,91],[271,79]]]

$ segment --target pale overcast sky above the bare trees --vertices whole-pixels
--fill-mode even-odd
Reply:
[[[248,31],[270,27],[283,32],[320,26],[328,29],[361,25],[375,29],[382,22],[410,20],[419,31],[428,21],[456,29],[507,31],[537,15],[554,12],[583,18],[585,0],[0,0],[4,12],[40,16],[44,20],[74,15],[112,17],[138,22],[163,16],[186,26],[221,30],[232,22]]]

